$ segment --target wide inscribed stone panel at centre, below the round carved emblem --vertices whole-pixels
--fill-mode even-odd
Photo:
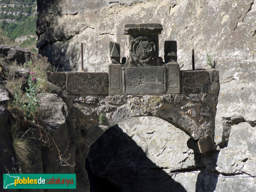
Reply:
[[[166,93],[165,67],[123,67],[123,94]]]

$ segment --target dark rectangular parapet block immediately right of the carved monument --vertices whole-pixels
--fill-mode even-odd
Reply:
[[[208,92],[209,73],[206,70],[181,71],[180,89],[183,93]]]

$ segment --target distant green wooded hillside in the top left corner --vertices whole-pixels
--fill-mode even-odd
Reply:
[[[0,18],[0,42],[5,45],[18,45],[28,48],[33,52],[36,50],[36,0],[2,0],[1,4],[15,4],[12,6],[1,7]],[[4,13],[5,12],[5,13]],[[20,12],[19,15],[7,14],[8,12]],[[25,14],[28,14],[25,16]],[[7,22],[12,20],[13,22]],[[30,36],[32,35],[32,36]],[[27,36],[28,39],[21,44],[15,44],[14,41],[20,36]],[[7,41],[7,37],[10,41]],[[4,38],[4,39],[3,39]]]

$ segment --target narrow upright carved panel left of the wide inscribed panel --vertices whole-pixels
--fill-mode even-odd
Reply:
[[[109,95],[122,95],[122,66],[108,65],[108,92]]]

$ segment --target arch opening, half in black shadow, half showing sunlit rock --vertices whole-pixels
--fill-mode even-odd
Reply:
[[[189,138],[158,117],[132,117],[112,126],[87,156],[90,190],[105,191],[107,185],[104,190],[97,181],[105,178],[120,191],[186,191],[170,172],[196,166]]]

